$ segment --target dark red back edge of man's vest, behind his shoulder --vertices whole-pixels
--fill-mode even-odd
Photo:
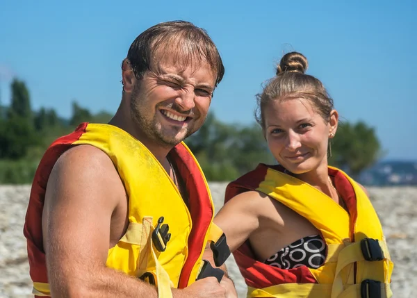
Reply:
[[[71,144],[79,140],[85,133],[88,123],[80,124],[73,133],[58,138],[47,149],[33,179],[28,209],[24,223],[23,233],[26,237],[29,274],[32,281],[47,283],[47,267],[43,247],[42,212],[45,192],[52,168],[56,160],[71,147]]]

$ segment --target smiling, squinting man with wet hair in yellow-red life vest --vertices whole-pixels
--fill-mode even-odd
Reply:
[[[204,123],[223,74],[215,44],[193,24],[136,38],[111,122],[56,140],[35,174],[24,226],[35,297],[236,296],[227,277],[203,278],[213,275],[204,247],[225,240],[181,143]]]

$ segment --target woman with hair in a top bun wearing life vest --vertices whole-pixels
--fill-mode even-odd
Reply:
[[[287,53],[256,119],[279,165],[227,186],[215,217],[248,297],[391,297],[393,263],[366,190],[329,167],[338,113],[307,60]]]

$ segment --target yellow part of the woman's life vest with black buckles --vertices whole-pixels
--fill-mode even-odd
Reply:
[[[308,268],[317,283],[280,283],[267,288],[249,286],[247,297],[392,296],[389,283],[393,263],[377,213],[366,193],[355,181],[340,169],[329,167],[330,171],[340,172],[353,188],[354,203],[350,214],[308,183],[266,165],[260,165],[252,178],[246,176],[242,180],[252,181],[252,188],[239,182],[239,179],[228,186],[226,199],[245,188],[263,192],[276,199],[309,220],[320,231],[327,245],[325,264],[318,269]],[[253,176],[261,178],[254,182]],[[241,254],[235,255],[240,271],[244,276],[246,274],[247,280],[255,280],[256,265],[244,266],[243,261],[240,263],[244,257]]]

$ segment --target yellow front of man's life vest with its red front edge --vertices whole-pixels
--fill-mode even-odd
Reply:
[[[106,266],[153,280],[158,297],[172,297],[171,288],[185,288],[193,283],[203,265],[206,243],[216,242],[222,231],[212,223],[211,194],[188,147],[181,143],[170,155],[186,181],[190,210],[154,155],[122,129],[85,124],[74,133],[78,133],[76,140],[67,143],[90,144],[104,151],[113,161],[129,197],[129,226],[117,245],[109,249]],[[65,140],[58,139],[52,147]],[[166,228],[163,224],[169,226],[170,236],[167,231],[161,233]],[[34,282],[33,294],[49,296],[48,283]]]

